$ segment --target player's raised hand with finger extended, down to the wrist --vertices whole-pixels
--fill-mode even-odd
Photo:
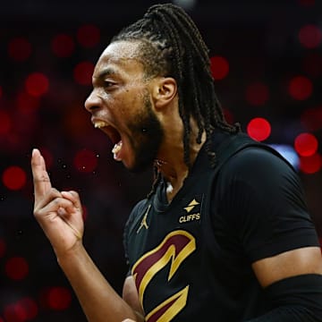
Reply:
[[[76,191],[57,191],[52,187],[44,157],[37,148],[32,151],[31,169],[34,215],[56,255],[64,255],[81,242],[84,224],[79,195]]]

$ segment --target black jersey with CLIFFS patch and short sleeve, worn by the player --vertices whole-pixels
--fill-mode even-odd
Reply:
[[[214,135],[170,204],[165,182],[131,212],[126,255],[146,321],[242,321],[271,309],[251,263],[318,246],[297,174],[244,134]]]

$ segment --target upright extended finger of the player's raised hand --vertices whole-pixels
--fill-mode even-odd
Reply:
[[[34,182],[35,201],[44,197],[51,189],[49,175],[46,171],[44,157],[41,156],[38,148],[32,150],[31,170]]]

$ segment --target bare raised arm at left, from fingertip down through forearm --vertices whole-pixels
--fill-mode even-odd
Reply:
[[[83,221],[80,198],[75,191],[57,191],[51,186],[44,158],[33,150],[34,215],[51,242],[64,274],[90,322],[138,318],[131,306],[107,283],[82,245]],[[129,292],[133,292],[131,289]]]

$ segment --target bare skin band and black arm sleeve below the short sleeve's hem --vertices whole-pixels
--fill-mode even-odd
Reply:
[[[260,259],[252,268],[274,308],[249,322],[322,320],[322,258],[318,247]]]

